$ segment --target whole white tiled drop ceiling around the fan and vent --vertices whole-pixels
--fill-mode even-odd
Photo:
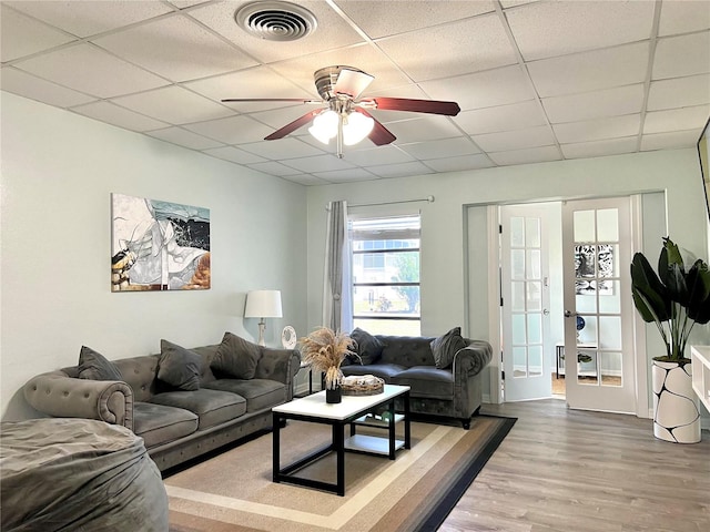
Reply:
[[[245,1],[2,1],[0,86],[305,185],[692,147],[710,115],[710,0],[297,1],[310,35],[234,21]],[[363,96],[456,101],[455,117],[372,111],[397,140],[302,127],[313,72],[375,76]]]

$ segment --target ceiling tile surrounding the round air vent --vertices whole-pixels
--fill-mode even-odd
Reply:
[[[234,13],[248,1],[219,2],[190,11],[190,16],[235,43],[241,50],[263,63],[283,61],[321,52],[327,49],[347,47],[362,42],[361,35],[323,1],[302,1],[317,19],[317,28],[310,35],[297,41],[266,41],[254,37],[236,25]],[[336,62],[327,64],[351,64]],[[322,66],[327,66],[323,64]],[[353,65],[356,66],[356,65]]]

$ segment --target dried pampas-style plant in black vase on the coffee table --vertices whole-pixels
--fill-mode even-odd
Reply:
[[[301,338],[300,351],[303,361],[311,365],[312,369],[324,374],[326,402],[341,402],[341,365],[348,355],[357,357],[357,354],[351,350],[354,344],[348,334],[335,332],[327,327],[320,327]]]

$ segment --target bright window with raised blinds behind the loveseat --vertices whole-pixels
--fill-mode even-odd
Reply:
[[[419,216],[349,221],[353,325],[419,336]]]

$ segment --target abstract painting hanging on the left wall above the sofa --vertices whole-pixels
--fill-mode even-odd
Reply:
[[[111,291],[210,288],[210,209],[111,194]]]

